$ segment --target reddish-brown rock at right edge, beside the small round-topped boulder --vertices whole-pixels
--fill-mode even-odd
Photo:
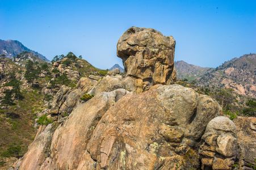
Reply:
[[[242,154],[244,155],[244,164],[256,165],[256,118],[255,117],[237,117],[234,120],[237,127],[237,139]]]

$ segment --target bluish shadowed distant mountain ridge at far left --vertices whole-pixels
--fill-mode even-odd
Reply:
[[[7,58],[16,57],[17,54],[22,53],[24,51],[28,51],[33,53],[34,55],[38,56],[40,59],[44,61],[50,62],[46,57],[42,54],[37,53],[26,46],[24,46],[21,42],[16,40],[0,40],[0,55],[5,54]]]

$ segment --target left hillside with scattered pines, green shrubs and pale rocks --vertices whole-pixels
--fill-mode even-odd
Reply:
[[[75,88],[82,76],[106,73],[71,52],[54,57],[52,64],[31,52],[22,52],[12,61],[0,58],[0,167],[27,152],[40,121],[44,122],[41,118],[35,124],[37,113],[48,111],[62,85]]]

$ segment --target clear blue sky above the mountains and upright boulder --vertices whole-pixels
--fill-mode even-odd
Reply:
[[[49,60],[73,52],[100,69],[123,66],[116,44],[132,26],[173,36],[175,61],[202,67],[256,53],[255,0],[0,0],[0,23],[1,40]]]

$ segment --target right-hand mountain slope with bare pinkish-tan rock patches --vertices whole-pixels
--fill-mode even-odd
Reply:
[[[233,58],[196,81],[201,87],[233,88],[237,94],[256,98],[256,54]]]

